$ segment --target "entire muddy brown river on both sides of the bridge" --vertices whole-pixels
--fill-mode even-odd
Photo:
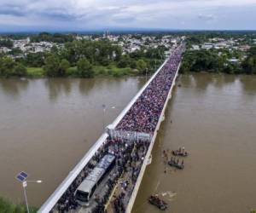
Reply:
[[[132,213],[160,212],[147,202],[152,193],[169,204],[166,212],[256,208],[256,77],[194,73],[177,81]],[[43,180],[28,184],[28,201],[42,204],[143,83],[0,79],[0,195],[23,202],[15,175],[26,170],[29,180]],[[178,147],[190,153],[181,171],[162,158]]]

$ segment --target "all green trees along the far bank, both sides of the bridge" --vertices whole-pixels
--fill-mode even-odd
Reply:
[[[154,36],[154,43],[158,43],[165,32],[147,33]],[[256,48],[244,53],[240,50],[229,49],[201,49],[189,50],[192,44],[207,42],[209,38],[234,38],[240,39],[240,44],[253,45],[256,39],[255,32],[172,32],[172,35],[187,36],[187,51],[183,55],[182,72],[225,72],[230,74],[246,73],[256,74]],[[25,35],[20,36],[25,37]],[[0,54],[0,77],[81,77],[92,78],[95,75],[123,76],[129,74],[145,74],[154,72],[164,60],[166,48],[159,46],[157,49],[142,47],[130,54],[123,54],[123,50],[116,43],[108,39],[97,41],[76,40],[75,34],[61,34],[42,32],[30,35],[31,42],[53,42],[58,45],[49,51],[28,53],[24,58],[15,60],[7,55]],[[94,35],[93,37],[100,37]],[[141,39],[142,34],[132,37]],[[18,35],[9,35],[0,40],[0,46],[11,48],[10,38]],[[122,39],[122,37],[119,37]],[[221,54],[219,54],[221,51]],[[9,55],[20,55],[20,49],[12,49]],[[246,58],[244,58],[246,56]],[[236,58],[240,62],[232,63],[229,60]]]

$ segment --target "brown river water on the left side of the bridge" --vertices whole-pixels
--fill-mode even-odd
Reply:
[[[144,78],[0,79],[0,195],[40,205],[111,124]],[[106,106],[103,114],[102,105]]]

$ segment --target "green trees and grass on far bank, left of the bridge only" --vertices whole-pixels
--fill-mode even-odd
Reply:
[[[48,37],[48,34],[44,33],[40,37],[45,40],[45,36]],[[0,76],[92,78],[98,74],[115,77],[144,74],[153,72],[160,65],[165,50],[164,47],[147,51],[141,49],[123,55],[121,47],[108,40],[73,40],[62,48],[53,46],[50,51],[29,53],[25,58],[12,60],[7,56],[0,57]]]

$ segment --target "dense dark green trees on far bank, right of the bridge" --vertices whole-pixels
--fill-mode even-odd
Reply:
[[[222,53],[214,49],[187,50],[183,54],[183,64],[181,72],[225,72],[229,74],[256,74],[256,47],[250,49],[247,53],[247,59],[241,63],[231,63],[228,59],[231,57],[241,58],[241,53],[235,51]]]

